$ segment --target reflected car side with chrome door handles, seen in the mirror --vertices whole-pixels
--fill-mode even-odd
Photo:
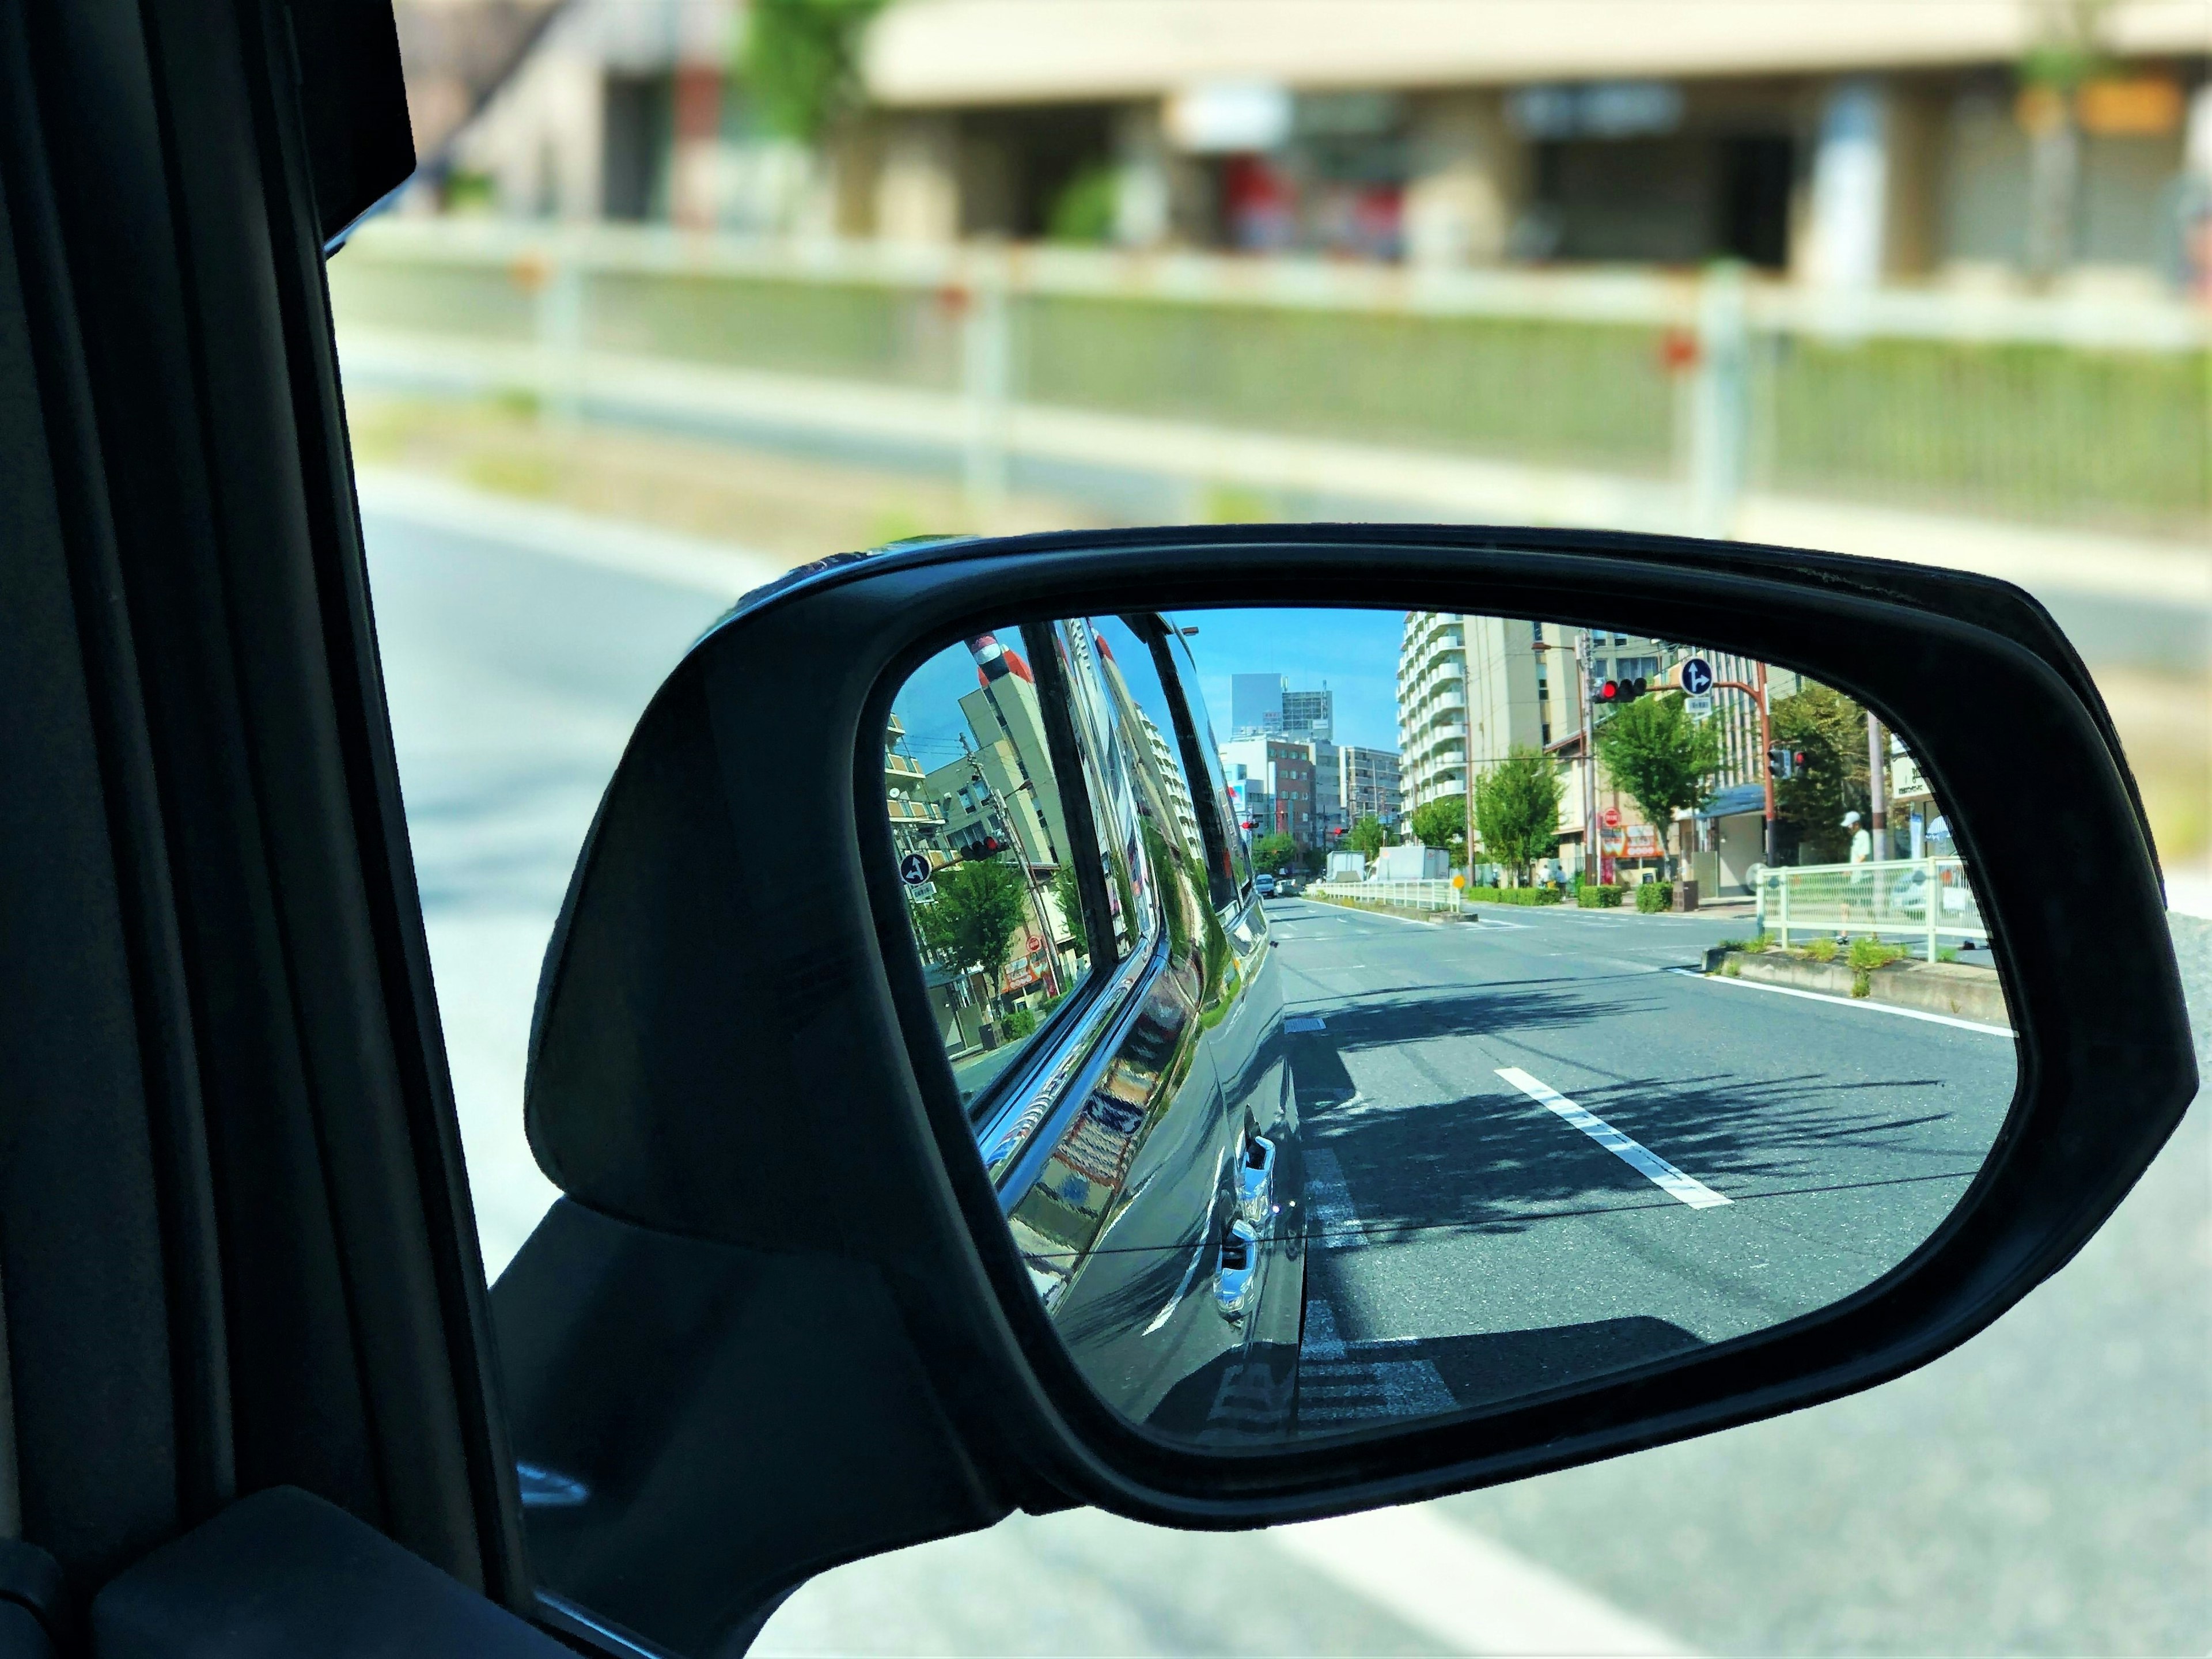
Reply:
[[[1051,633],[1124,956],[978,1102],[980,1146],[1093,1387],[1177,1438],[1274,1440],[1296,1409],[1305,1221],[1267,918],[1168,630]]]

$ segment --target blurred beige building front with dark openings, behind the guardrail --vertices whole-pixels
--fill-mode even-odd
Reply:
[[[2146,283],[2212,212],[2197,0],[894,0],[818,155],[754,131],[743,18],[566,0],[451,159],[522,215],[1845,288]]]

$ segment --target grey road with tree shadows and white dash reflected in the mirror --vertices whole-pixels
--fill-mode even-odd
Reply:
[[[2013,1097],[2000,1029],[1694,973],[1741,920],[1270,918],[1307,1148],[1303,1431],[1827,1307],[1938,1228]]]

